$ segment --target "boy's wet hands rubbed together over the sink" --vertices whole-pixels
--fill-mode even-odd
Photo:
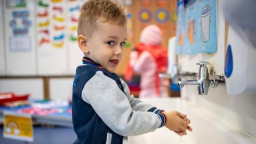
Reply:
[[[179,134],[180,136],[186,135],[186,130],[192,131],[193,129],[188,125],[190,121],[185,114],[179,113],[179,111],[163,112],[166,116],[165,126]]]

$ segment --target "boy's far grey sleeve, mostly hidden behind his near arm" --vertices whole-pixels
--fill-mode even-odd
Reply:
[[[134,98],[133,95],[130,94],[130,90],[128,85],[124,82],[123,79],[121,79],[122,85],[124,87],[124,92],[131,104],[131,107],[133,110],[135,111],[148,111],[149,109],[153,108],[154,106],[149,105],[147,103],[142,102],[140,99],[138,98]]]

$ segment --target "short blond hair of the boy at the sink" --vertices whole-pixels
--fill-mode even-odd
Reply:
[[[126,25],[125,7],[117,1],[89,0],[83,4],[78,20],[78,35],[92,36],[93,30],[98,28],[97,19],[104,18],[117,25]]]

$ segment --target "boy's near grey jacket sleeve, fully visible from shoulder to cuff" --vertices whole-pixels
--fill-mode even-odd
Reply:
[[[111,130],[123,136],[155,131],[161,126],[161,118],[154,113],[135,111],[129,99],[116,82],[97,73],[85,84],[82,99],[89,103]]]

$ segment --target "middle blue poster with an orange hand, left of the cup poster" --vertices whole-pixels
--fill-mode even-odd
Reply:
[[[197,52],[198,41],[196,35],[199,33],[197,25],[198,1],[190,0],[186,4],[185,16],[185,36],[184,36],[184,54],[195,55]]]

